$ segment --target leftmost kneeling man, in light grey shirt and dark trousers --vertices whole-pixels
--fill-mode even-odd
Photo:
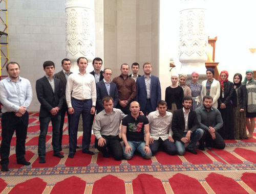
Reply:
[[[113,108],[113,98],[105,96],[102,99],[104,110],[95,117],[93,133],[95,148],[102,152],[103,157],[109,158],[110,153],[114,159],[123,158],[122,146],[119,138],[120,120],[126,116],[120,109]]]

